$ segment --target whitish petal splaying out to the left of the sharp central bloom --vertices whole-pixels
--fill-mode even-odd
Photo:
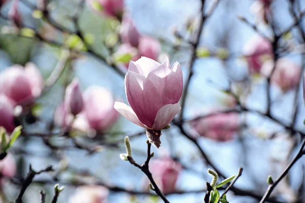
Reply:
[[[141,121],[138,119],[135,112],[132,110],[130,106],[127,106],[124,103],[115,101],[114,103],[114,109],[120,113],[122,116],[133,122],[134,124],[137,124],[143,128],[147,128]]]

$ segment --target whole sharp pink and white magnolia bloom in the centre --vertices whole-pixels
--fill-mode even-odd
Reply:
[[[130,61],[125,76],[125,92],[129,106],[115,102],[114,108],[133,123],[148,129],[161,130],[179,112],[178,101],[183,89],[180,64],[170,66],[141,57]]]

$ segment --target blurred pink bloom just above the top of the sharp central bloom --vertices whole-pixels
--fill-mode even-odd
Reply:
[[[161,52],[161,45],[159,41],[154,38],[141,36],[138,49],[141,56],[157,60],[158,55]]]

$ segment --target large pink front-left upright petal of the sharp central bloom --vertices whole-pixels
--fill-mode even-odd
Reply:
[[[153,126],[157,112],[163,106],[154,83],[130,71],[125,77],[125,91],[127,100],[139,120],[147,127]]]

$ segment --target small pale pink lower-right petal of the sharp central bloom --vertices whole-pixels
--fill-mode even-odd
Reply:
[[[153,129],[161,130],[165,126],[167,126],[175,117],[175,115],[180,111],[181,107],[179,104],[168,104],[162,107],[156,116]]]

